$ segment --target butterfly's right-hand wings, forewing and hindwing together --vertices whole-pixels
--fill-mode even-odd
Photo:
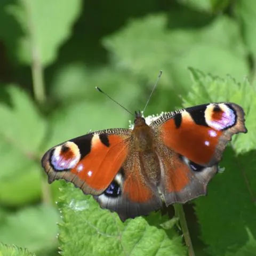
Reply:
[[[162,165],[166,204],[206,194],[231,136],[246,132],[243,109],[234,103],[210,103],[164,114],[151,125]]]

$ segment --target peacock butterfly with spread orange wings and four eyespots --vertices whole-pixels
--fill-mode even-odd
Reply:
[[[121,220],[206,194],[223,150],[246,133],[235,103],[207,103],[163,114],[134,128],[91,132],[51,148],[42,158],[49,183],[64,179],[93,195]]]

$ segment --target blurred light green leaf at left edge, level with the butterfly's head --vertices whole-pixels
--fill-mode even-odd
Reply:
[[[42,142],[46,124],[25,91],[14,85],[7,86],[6,90],[11,96],[12,106],[0,105],[0,134],[16,148],[29,154]]]

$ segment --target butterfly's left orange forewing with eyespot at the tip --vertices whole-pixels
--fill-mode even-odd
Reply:
[[[85,194],[100,195],[121,169],[130,136],[129,129],[102,130],[50,149],[42,158],[49,182],[65,179]]]

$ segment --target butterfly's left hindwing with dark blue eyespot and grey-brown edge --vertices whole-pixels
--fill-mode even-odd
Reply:
[[[157,186],[143,175],[150,172],[147,168],[139,154],[131,152],[107,190],[94,198],[102,208],[117,212],[123,221],[160,209],[163,203]]]

